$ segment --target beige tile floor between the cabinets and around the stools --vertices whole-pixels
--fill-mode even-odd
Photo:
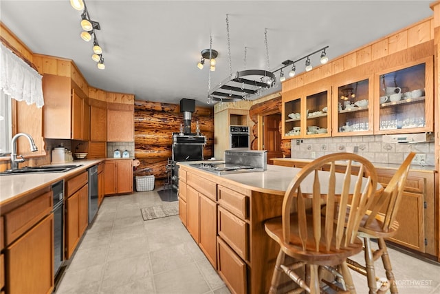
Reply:
[[[161,202],[157,190],[104,198],[55,293],[230,293],[178,216],[142,220],[141,208]],[[440,293],[440,266],[390,255],[399,293]],[[368,293],[364,277],[353,280]]]

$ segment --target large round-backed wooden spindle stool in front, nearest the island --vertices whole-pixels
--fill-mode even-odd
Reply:
[[[339,160],[347,160],[345,173],[336,171]],[[359,167],[358,176],[352,176],[354,161]],[[330,170],[322,171],[324,166]],[[329,154],[303,167],[287,187],[282,216],[265,221],[266,233],[281,247],[270,293],[276,293],[282,272],[300,287],[294,293],[304,290],[320,293],[319,266],[337,265],[342,271],[345,290],[355,293],[346,260],[362,251],[357,233],[376,189],[375,167],[357,154]],[[347,218],[349,206],[355,209],[349,210]],[[321,209],[325,209],[325,214]],[[295,262],[287,262],[291,258],[286,255]],[[296,272],[300,269],[305,269],[305,277]]]

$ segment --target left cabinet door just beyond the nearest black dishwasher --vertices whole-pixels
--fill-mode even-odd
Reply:
[[[79,240],[79,226],[78,226],[78,217],[79,217],[79,191],[74,193],[72,196],[67,198],[66,200],[66,232],[65,232],[65,240],[66,240],[66,258],[69,259],[74,253],[76,244],[78,244]]]

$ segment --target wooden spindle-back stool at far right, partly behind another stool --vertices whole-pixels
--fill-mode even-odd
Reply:
[[[399,222],[396,220],[397,211],[399,209],[401,194],[404,191],[411,160],[414,156],[415,153],[410,152],[388,185],[386,185],[380,197],[375,198],[375,202],[373,202],[370,210],[366,212],[366,216],[364,216],[360,224],[358,235],[364,239],[365,264],[362,265],[353,260],[347,260],[351,269],[366,275],[370,289],[369,293],[380,293],[388,288],[390,288],[392,294],[398,293],[385,240],[393,237],[397,229],[399,229]],[[377,240],[377,250],[372,249],[372,239]],[[382,258],[386,279],[389,284],[383,285],[383,289],[378,290],[378,279],[375,275],[374,262],[379,258]]]

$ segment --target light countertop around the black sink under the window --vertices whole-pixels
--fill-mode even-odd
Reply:
[[[58,180],[69,178],[80,171],[85,171],[93,165],[102,162],[103,159],[83,159],[71,162],[54,163],[52,165],[83,165],[63,173],[38,173],[38,174],[17,174],[0,176],[0,206],[20,198],[25,193],[35,191],[47,185],[52,185]]]

